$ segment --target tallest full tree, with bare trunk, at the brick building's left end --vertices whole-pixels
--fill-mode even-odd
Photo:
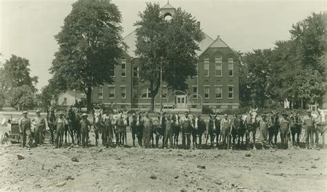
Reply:
[[[126,49],[121,33],[121,12],[110,0],[79,0],[55,36],[59,51],[50,72],[62,78],[64,89],[86,93],[91,108],[92,87],[112,83],[109,72]]]

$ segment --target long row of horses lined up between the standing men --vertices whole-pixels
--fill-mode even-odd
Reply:
[[[122,147],[127,145],[127,129],[130,127],[130,132],[132,134],[132,146],[139,147],[143,146],[143,114],[134,113],[130,118],[126,112],[121,114],[111,115],[112,118],[106,120],[101,120],[103,111],[101,109],[95,109],[93,112],[93,129],[95,132],[95,145],[99,144],[99,139],[101,135],[102,144],[106,147],[113,145],[114,136],[116,138],[115,145],[117,147]],[[167,118],[169,116],[169,118]],[[118,118],[117,118],[118,117]],[[203,116],[201,115],[191,115],[191,129],[192,129],[192,147],[193,149],[201,149],[201,147],[206,146],[210,138],[210,148],[219,148],[219,144],[222,144],[224,149],[233,149],[245,147],[249,149],[256,149],[256,134],[259,128],[259,120],[257,110],[253,109],[248,114],[244,115],[235,115],[233,118],[228,118],[230,120],[230,129],[224,130],[224,133],[221,129],[221,118],[217,115],[210,114],[210,119],[205,122]],[[48,111],[47,120],[50,128],[50,141],[54,142],[54,122],[56,116],[53,111]],[[166,122],[167,120],[172,121],[172,131],[168,134],[172,134],[172,146],[170,148],[179,147],[179,134],[181,134],[182,129],[182,120],[183,117],[179,114],[160,114],[158,118],[152,120],[151,129],[151,140],[152,147],[159,147],[159,140],[161,140],[161,147],[164,146],[164,138],[170,138],[170,136],[165,137],[166,134]],[[282,125],[279,120],[278,113],[272,113],[268,115],[268,145],[271,147],[277,147],[277,137],[280,135],[281,139],[281,148],[286,149],[288,147],[288,140],[291,138],[291,142],[294,147],[299,148],[300,135],[301,135],[301,120],[297,114],[290,115],[288,117],[288,122],[290,126],[289,129]],[[68,112],[66,118],[65,126],[65,142],[77,143],[81,142],[81,129],[79,127],[79,120],[81,117],[74,111]],[[317,130],[321,134],[322,140],[324,142],[324,132],[326,127],[321,130]],[[68,136],[68,137],[67,137]],[[205,137],[205,145],[202,144],[202,138]],[[135,144],[137,140],[137,145]],[[260,140],[260,138],[259,138]]]

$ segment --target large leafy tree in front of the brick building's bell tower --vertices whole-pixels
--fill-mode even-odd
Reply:
[[[160,14],[158,3],[146,3],[139,12],[136,51],[141,81],[150,84],[150,109],[154,109],[155,96],[160,86],[160,71],[168,87],[187,89],[186,79],[197,75],[196,63],[201,41],[201,30],[191,14],[178,8],[170,21]]]

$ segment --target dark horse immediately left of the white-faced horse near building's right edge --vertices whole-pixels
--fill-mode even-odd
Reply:
[[[237,145],[243,145],[244,134],[246,133],[246,127],[240,116],[235,115],[235,119],[231,122],[231,134],[232,134],[232,148],[235,149],[235,140],[237,139]]]

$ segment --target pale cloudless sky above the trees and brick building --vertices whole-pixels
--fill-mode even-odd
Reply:
[[[139,20],[138,13],[151,0],[112,0],[121,11],[126,36]],[[30,61],[32,76],[39,76],[37,88],[48,84],[48,69],[58,50],[54,35],[72,10],[72,0],[0,0],[0,61],[11,54]],[[166,0],[151,1],[166,5]],[[312,12],[326,11],[326,0],[170,0],[175,8],[190,12],[212,39],[218,35],[241,52],[274,47],[277,40],[290,38],[293,23]]]

